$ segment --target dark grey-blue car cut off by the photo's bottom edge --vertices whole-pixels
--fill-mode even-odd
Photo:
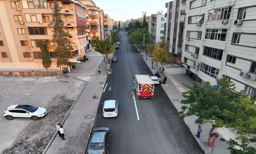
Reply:
[[[111,135],[111,129],[108,127],[98,127],[93,129],[87,145],[86,154],[108,154]]]

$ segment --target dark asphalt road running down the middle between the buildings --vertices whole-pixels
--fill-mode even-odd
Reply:
[[[133,44],[128,43],[125,32],[121,32],[124,42],[120,51],[114,54],[118,62],[112,62],[112,74],[108,75],[107,88],[101,97],[95,119],[96,127],[112,129],[110,154],[201,154],[202,149],[196,143],[186,124],[178,118],[178,113],[160,85],[154,89],[153,99],[137,99],[137,120],[134,101],[131,99],[132,78],[135,74],[153,73],[137,52]],[[125,46],[123,45],[125,43]],[[109,86],[112,94],[108,94]],[[104,118],[102,107],[105,100],[119,102],[118,116]]]

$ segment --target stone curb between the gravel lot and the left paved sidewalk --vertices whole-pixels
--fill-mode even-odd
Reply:
[[[79,79],[79,80],[80,80],[80,79]],[[81,80],[81,81],[83,81],[83,80]],[[83,81],[83,82],[85,82],[85,81]],[[81,85],[82,85],[82,84],[81,84]],[[78,97],[76,98],[76,100],[74,101],[74,103],[72,104],[72,106],[70,107],[68,113],[66,114],[66,116],[65,116],[64,119],[63,119],[63,121],[61,122],[61,125],[63,125],[63,124],[65,123],[65,121],[67,120],[67,118],[68,118],[68,116],[69,116],[69,114],[70,114],[72,108],[75,106],[75,104],[76,104],[78,98],[80,97],[81,93],[84,91],[86,85],[87,85],[87,82],[85,82],[83,89],[80,91]],[[49,143],[47,144],[47,146],[45,147],[45,150],[42,152],[42,154],[45,154],[45,153],[47,152],[47,150],[49,149],[49,147],[50,147],[51,144],[53,143],[53,141],[54,141],[55,137],[57,136],[57,134],[58,134],[58,132],[55,131],[53,137],[51,138],[50,142],[49,142]]]

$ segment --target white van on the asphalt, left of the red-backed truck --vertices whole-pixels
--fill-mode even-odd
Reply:
[[[116,117],[118,114],[118,102],[116,100],[106,100],[103,103],[103,117]]]

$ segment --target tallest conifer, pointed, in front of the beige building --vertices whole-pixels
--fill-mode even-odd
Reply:
[[[59,9],[59,4],[57,0],[54,0],[54,7],[53,7],[53,19],[48,26],[53,27],[53,39],[52,42],[55,43],[55,56],[57,59],[57,67],[60,67],[60,74],[62,74],[62,67],[63,65],[72,66],[74,63],[69,62],[67,59],[70,57],[70,50],[72,49],[72,43],[68,40],[68,37],[72,37],[70,33],[64,31],[66,28],[64,26],[64,22],[61,17],[61,10]]]

